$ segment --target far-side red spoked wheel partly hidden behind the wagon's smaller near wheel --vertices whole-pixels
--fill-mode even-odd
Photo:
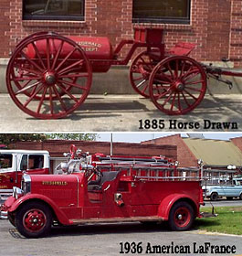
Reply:
[[[156,60],[153,58],[153,55],[155,54]],[[159,51],[153,50],[152,52],[148,52],[145,50],[138,54],[132,61],[132,66],[130,68],[132,88],[145,98],[150,98],[149,78],[154,67],[159,62],[157,59],[159,59]]]

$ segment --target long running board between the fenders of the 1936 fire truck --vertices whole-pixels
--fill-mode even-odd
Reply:
[[[115,223],[115,222],[134,222],[134,221],[163,221],[163,218],[158,216],[153,217],[131,217],[131,218],[93,218],[93,219],[70,219],[73,224],[88,224],[88,223]]]

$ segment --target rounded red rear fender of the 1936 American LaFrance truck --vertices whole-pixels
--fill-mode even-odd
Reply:
[[[158,216],[161,217],[163,220],[168,220],[170,210],[174,206],[174,203],[181,199],[183,199],[184,201],[192,202],[192,207],[195,207],[196,212],[198,211],[199,207],[193,197],[190,197],[186,194],[172,194],[163,198],[163,201],[158,208]]]

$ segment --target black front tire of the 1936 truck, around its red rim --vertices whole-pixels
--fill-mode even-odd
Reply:
[[[23,225],[23,218],[26,214],[26,211],[30,210],[31,208],[37,208],[43,211],[47,219],[46,225],[44,226],[44,228],[36,232],[30,232]],[[37,238],[47,236],[47,234],[50,232],[51,224],[52,224],[52,213],[50,209],[41,202],[33,201],[33,202],[26,203],[26,205],[24,205],[22,208],[16,211],[16,229],[19,231],[21,235],[25,236],[26,238],[37,239]]]

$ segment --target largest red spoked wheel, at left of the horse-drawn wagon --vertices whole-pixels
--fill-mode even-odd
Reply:
[[[57,40],[59,43],[58,47],[54,44],[54,40]],[[27,58],[24,50],[26,50],[26,46],[28,45],[34,45],[37,44],[37,42],[46,41],[47,45],[47,54],[46,59],[40,57],[40,53],[38,52],[37,55],[37,63],[33,64],[32,59]],[[35,42],[35,43],[34,43]],[[51,45],[52,42],[52,45]],[[62,59],[59,58],[59,54],[61,54],[63,50],[63,45],[68,45],[70,48],[72,48],[71,54],[63,57]],[[53,48],[55,48],[56,52],[54,54],[50,54],[50,45]],[[35,48],[36,49],[36,48]],[[37,51],[36,51],[37,52]],[[75,52],[79,53],[79,56],[81,59],[70,59],[71,55]],[[16,61],[16,58],[19,58],[19,55],[21,54],[24,56],[23,62],[29,62],[32,67],[35,69],[30,69],[30,71],[24,66],[20,67],[20,70],[24,70],[24,72],[28,72],[27,74],[31,76],[31,78],[35,78],[37,76],[36,81],[37,85],[35,86],[35,80],[33,79],[33,84],[28,85],[27,80],[26,84],[22,86],[22,89],[19,90],[19,84],[16,80],[21,80],[21,77],[16,77],[16,68],[19,68],[19,64]],[[50,56],[51,55],[51,56]],[[20,60],[21,60],[20,58]],[[42,61],[41,61],[42,59]],[[68,61],[74,61],[73,67],[71,65],[69,67],[65,67],[66,63]],[[64,65],[65,63],[65,65]],[[60,65],[60,67],[59,67]],[[48,66],[48,67],[46,67]],[[79,73],[78,69],[85,69],[85,72]],[[57,70],[56,70],[57,69]],[[76,69],[76,70],[75,70]],[[47,73],[53,71],[55,76],[55,79],[57,81],[53,84],[47,85],[47,80],[44,80],[44,76],[47,76]],[[62,72],[62,73],[61,73]],[[70,72],[70,73],[68,73]],[[72,72],[72,73],[71,73]],[[79,85],[77,80],[83,79],[85,80],[84,86]],[[26,77],[25,77],[26,78]],[[29,78],[30,79],[30,78]],[[43,81],[44,80],[44,81]],[[16,105],[27,114],[34,116],[36,118],[41,119],[56,119],[56,118],[62,118],[68,115],[68,113],[73,112],[76,110],[79,105],[85,101],[89,94],[90,86],[91,86],[91,80],[92,80],[92,73],[91,73],[91,67],[89,64],[89,59],[87,59],[85,52],[83,49],[79,48],[79,46],[73,42],[71,39],[68,39],[66,37],[61,37],[57,34],[44,34],[37,37],[29,37],[25,42],[22,42],[20,44],[20,47],[16,49],[14,55],[9,61],[7,70],[6,70],[6,84],[7,84],[7,90],[13,99],[15,101]],[[31,82],[30,82],[31,83]],[[31,92],[27,91],[27,88],[31,88]],[[70,87],[77,88],[80,92],[79,96],[76,97],[70,92]],[[27,89],[27,90],[26,90]],[[18,90],[18,91],[17,91]],[[29,89],[30,90],[30,89]],[[63,93],[64,91],[64,93]],[[27,92],[27,93],[26,93]],[[30,93],[30,94],[29,94]],[[31,94],[32,93],[32,94]],[[22,95],[21,95],[22,94]],[[38,96],[38,94],[40,96]],[[26,101],[23,101],[20,99],[20,96],[26,96]],[[30,96],[31,95],[31,96]],[[31,102],[38,101],[37,108],[32,110],[31,108],[28,108],[27,105]],[[69,101],[68,105],[65,101]],[[45,112],[43,109],[46,107],[44,106],[44,103],[47,104],[48,111]],[[41,108],[43,110],[41,110]],[[56,110],[55,110],[56,108]]]

